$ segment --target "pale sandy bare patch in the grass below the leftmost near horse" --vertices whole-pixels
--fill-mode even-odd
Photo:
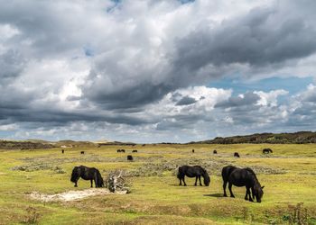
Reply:
[[[42,202],[69,202],[69,201],[76,201],[83,198],[87,198],[89,196],[94,195],[106,195],[106,194],[125,194],[126,191],[117,191],[116,193],[111,193],[105,188],[91,188],[82,191],[69,191],[64,193],[55,193],[55,194],[45,194],[45,193],[38,193],[33,192],[30,194],[30,197],[35,200],[40,200]]]

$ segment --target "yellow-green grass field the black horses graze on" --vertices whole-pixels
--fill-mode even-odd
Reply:
[[[264,156],[262,148],[274,154]],[[116,153],[125,148],[126,153]],[[191,149],[195,153],[191,153]],[[134,162],[127,162],[132,149]],[[218,155],[213,155],[213,149]],[[85,155],[79,152],[85,150]],[[240,158],[232,157],[237,151]],[[201,165],[211,183],[179,186],[175,169]],[[61,193],[89,188],[70,183],[73,166],[95,166],[105,177],[124,169],[131,193],[100,195],[74,202],[39,202],[33,191]],[[222,197],[222,166],[254,168],[265,185],[263,202],[246,202],[245,187],[233,187],[236,198]],[[137,145],[101,148],[0,150],[0,224],[316,224],[316,145]],[[302,202],[302,204],[300,204]],[[294,213],[296,213],[296,216]]]

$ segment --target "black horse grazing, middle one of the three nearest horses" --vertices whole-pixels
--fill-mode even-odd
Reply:
[[[182,185],[181,181],[183,181],[183,184],[185,186],[187,185],[187,184],[185,184],[185,181],[184,181],[185,175],[187,175],[188,177],[195,177],[195,184],[194,185],[197,185],[198,178],[200,181],[200,176],[203,176],[204,184],[206,186],[209,186],[210,179],[209,179],[208,172],[204,168],[202,168],[201,166],[180,166],[179,172],[177,175],[178,179],[180,180],[179,185]],[[202,185],[202,184],[200,183],[200,185]]]

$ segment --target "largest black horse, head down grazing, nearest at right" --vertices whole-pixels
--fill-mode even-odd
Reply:
[[[253,199],[256,197],[256,202],[261,202],[264,195],[264,187],[261,186],[258,179],[256,178],[255,172],[251,168],[237,168],[236,166],[224,166],[221,175],[223,177],[223,189],[224,196],[227,197],[226,184],[228,184],[228,189],[230,192],[230,197],[235,198],[234,193],[231,191],[232,185],[236,186],[246,186],[246,196],[245,200],[254,202]],[[252,192],[252,197],[250,193]],[[249,198],[248,198],[249,196]]]

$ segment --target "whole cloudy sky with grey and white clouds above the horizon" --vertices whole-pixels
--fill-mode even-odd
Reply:
[[[0,139],[316,130],[316,1],[0,5]]]

